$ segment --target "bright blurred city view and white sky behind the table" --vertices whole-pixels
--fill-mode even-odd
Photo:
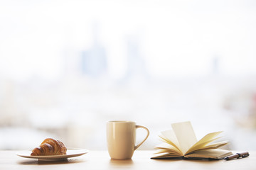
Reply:
[[[1,0],[0,149],[106,149],[107,120],[256,149],[255,30],[255,1]]]

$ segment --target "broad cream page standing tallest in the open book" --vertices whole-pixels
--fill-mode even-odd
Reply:
[[[190,122],[173,123],[171,127],[177,137],[182,154],[185,154],[196,142],[196,135]]]

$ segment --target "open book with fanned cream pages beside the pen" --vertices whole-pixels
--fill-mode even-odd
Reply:
[[[217,149],[227,145],[227,141],[214,142],[220,137],[217,137],[221,132],[208,133],[201,140],[196,140],[195,132],[193,131],[190,122],[173,123],[171,124],[173,130],[161,132],[159,137],[164,143],[156,145],[154,148],[158,149],[156,158],[174,158],[182,157],[187,159],[223,159],[232,152],[224,149]]]

